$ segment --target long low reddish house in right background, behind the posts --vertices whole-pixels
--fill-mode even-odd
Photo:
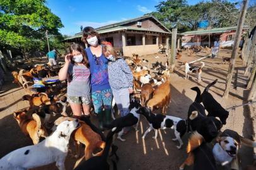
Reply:
[[[248,27],[243,28],[243,33],[248,30]],[[201,45],[204,47],[212,47],[214,41],[219,41],[220,47],[231,47],[235,40],[236,26],[224,28],[206,28],[196,31],[187,31],[182,33],[182,47],[192,47]]]

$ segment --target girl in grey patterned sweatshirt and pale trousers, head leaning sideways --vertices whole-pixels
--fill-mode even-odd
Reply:
[[[108,62],[108,78],[112,89],[113,98],[121,116],[127,115],[130,106],[130,94],[133,86],[133,76],[130,67],[125,60],[117,57],[117,52],[110,45],[103,47],[103,53],[110,61]],[[129,128],[124,129],[127,133]]]

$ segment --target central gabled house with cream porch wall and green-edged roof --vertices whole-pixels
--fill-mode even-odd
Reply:
[[[146,15],[96,28],[102,40],[111,42],[124,56],[156,54],[159,47],[169,47],[171,31],[154,16]],[[81,43],[82,33],[66,38],[64,42]]]

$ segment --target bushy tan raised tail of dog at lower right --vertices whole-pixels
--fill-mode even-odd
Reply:
[[[194,149],[196,149],[197,147],[199,147],[202,142],[204,142],[204,137],[202,137],[201,134],[199,134],[197,131],[195,131],[190,139],[189,139],[189,143],[187,144],[187,153],[192,152]]]

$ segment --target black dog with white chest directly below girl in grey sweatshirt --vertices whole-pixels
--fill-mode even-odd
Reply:
[[[139,104],[139,100],[132,98],[129,106],[130,113],[128,113],[125,116],[116,118],[109,125],[105,125],[105,127],[106,128],[131,127],[134,125],[134,128],[137,131],[138,130],[137,127],[139,125],[139,114],[137,113],[137,111],[139,110],[139,108],[141,108],[141,105]],[[122,135],[124,135],[123,129],[118,133],[117,139],[124,142],[125,139],[122,139]]]

